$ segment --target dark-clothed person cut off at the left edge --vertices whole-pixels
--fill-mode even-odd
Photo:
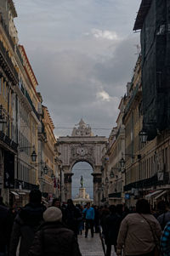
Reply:
[[[8,208],[0,205],[0,256],[8,255],[13,220]]]

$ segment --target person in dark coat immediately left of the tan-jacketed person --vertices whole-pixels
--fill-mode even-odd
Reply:
[[[122,217],[116,213],[116,206],[111,205],[110,215],[105,219],[105,244],[107,246],[106,256],[111,256],[111,245],[116,250],[116,240],[119,233]]]

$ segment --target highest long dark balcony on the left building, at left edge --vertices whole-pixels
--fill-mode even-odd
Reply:
[[[10,57],[8,56],[8,51],[3,46],[3,42],[0,41],[0,61],[3,70],[7,74],[9,80],[13,82],[14,85],[19,83],[18,73],[14,68],[14,64]]]

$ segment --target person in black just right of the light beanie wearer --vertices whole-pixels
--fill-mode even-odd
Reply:
[[[78,235],[78,226],[79,222],[82,219],[82,212],[79,208],[77,208],[72,199],[67,200],[67,207],[65,209],[65,225],[74,231],[75,236]]]

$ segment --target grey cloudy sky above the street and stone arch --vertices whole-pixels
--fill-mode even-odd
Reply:
[[[133,23],[141,0],[14,0],[20,44],[55,134],[71,134],[82,117],[92,128],[116,125],[137,59]],[[109,130],[94,134],[109,135]]]

